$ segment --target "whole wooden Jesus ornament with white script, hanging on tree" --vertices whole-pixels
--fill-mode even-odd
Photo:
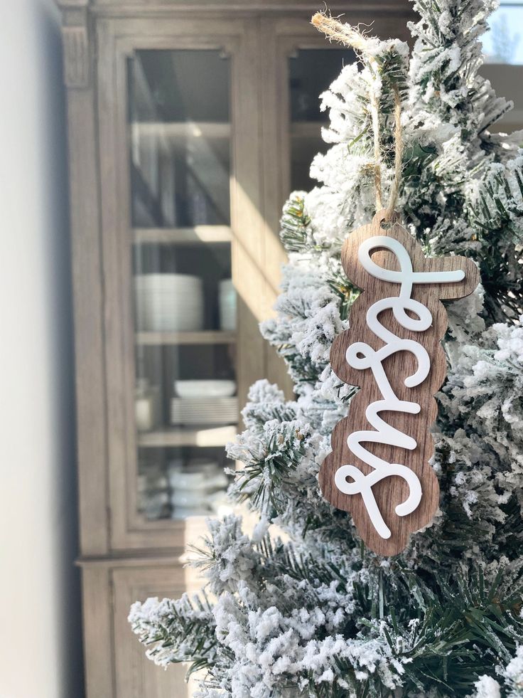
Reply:
[[[469,295],[480,275],[465,257],[425,258],[397,213],[382,226],[385,214],[379,211],[343,245],[343,268],[362,293],[350,329],[333,342],[330,365],[360,391],[333,430],[319,479],[323,497],[352,514],[370,549],[396,555],[438,507],[428,461],[438,410],[433,395],[446,376],[441,300]]]

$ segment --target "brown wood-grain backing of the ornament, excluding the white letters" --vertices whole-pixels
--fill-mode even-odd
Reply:
[[[411,533],[431,522],[438,507],[438,480],[428,460],[433,455],[433,439],[429,429],[437,415],[437,404],[433,395],[441,388],[446,376],[446,355],[440,340],[446,332],[447,314],[441,299],[454,300],[469,295],[478,285],[480,276],[473,261],[464,257],[425,258],[420,245],[399,224],[399,216],[396,213],[385,228],[382,227],[383,220],[384,211],[380,211],[374,216],[370,225],[352,232],[343,245],[343,268],[350,281],[362,289],[362,293],[351,308],[350,329],[336,337],[333,342],[330,365],[344,383],[358,386],[360,391],[350,403],[349,415],[333,430],[331,438],[333,451],[320,468],[319,480],[325,499],[338,509],[352,514],[355,526],[365,544],[378,554],[392,556],[404,549]],[[419,342],[425,347],[431,359],[431,369],[427,378],[414,388],[407,388],[404,385],[406,377],[413,374],[417,367],[413,354],[409,351],[397,351],[382,363],[387,379],[397,397],[400,400],[419,403],[421,406],[421,411],[416,415],[392,411],[379,413],[389,425],[416,440],[417,446],[414,450],[389,444],[365,443],[365,448],[379,458],[389,463],[401,463],[414,470],[421,482],[423,491],[421,502],[414,512],[404,517],[399,517],[395,512],[395,507],[404,502],[409,494],[408,485],[401,477],[386,477],[372,488],[379,511],[392,532],[389,539],[384,539],[377,533],[367,514],[362,495],[346,495],[338,490],[334,482],[335,472],[341,465],[355,465],[365,475],[372,472],[370,465],[352,454],[347,445],[347,437],[355,431],[372,429],[365,411],[370,403],[381,400],[383,396],[374,380],[372,369],[353,369],[347,363],[345,354],[347,348],[354,342],[365,342],[374,351],[384,346],[384,342],[367,326],[367,310],[381,298],[399,295],[399,283],[373,277],[358,261],[360,244],[373,236],[391,236],[399,240],[409,253],[415,272],[457,269],[465,272],[465,278],[457,283],[413,285],[411,297],[423,303],[432,314],[432,325],[425,332],[411,332],[404,329],[394,318],[392,310],[384,310],[379,314],[379,321],[387,329],[397,337]],[[382,268],[399,271],[396,256],[384,248],[374,250],[371,258]]]

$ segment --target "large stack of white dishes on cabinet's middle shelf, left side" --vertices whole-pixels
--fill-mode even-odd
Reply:
[[[203,329],[203,282],[189,274],[134,277],[136,327],[144,332]]]

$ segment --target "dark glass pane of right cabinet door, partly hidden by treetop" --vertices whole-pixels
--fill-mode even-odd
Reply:
[[[289,58],[292,190],[308,190],[317,184],[309,177],[311,161],[328,147],[321,139],[328,112],[320,112],[319,95],[338,77],[343,65],[354,61],[354,52],[343,48],[300,49]]]

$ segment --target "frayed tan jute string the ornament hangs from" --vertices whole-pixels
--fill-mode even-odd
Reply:
[[[318,31],[323,31],[331,41],[339,41],[345,46],[353,48],[361,53],[367,60],[370,68],[378,73],[378,63],[372,51],[370,51],[369,39],[358,29],[344,24],[334,17],[323,12],[317,12],[312,18],[313,25]],[[401,161],[403,159],[403,133],[401,131],[401,97],[396,85],[393,86],[394,97],[394,179],[389,192],[389,203],[385,209],[385,220],[388,220],[398,200],[399,184],[401,183]],[[370,90],[370,117],[372,122],[372,135],[374,143],[374,190],[376,195],[376,209],[381,211],[382,201],[382,147],[379,140],[379,92]]]

